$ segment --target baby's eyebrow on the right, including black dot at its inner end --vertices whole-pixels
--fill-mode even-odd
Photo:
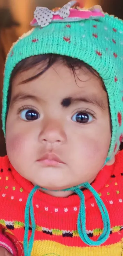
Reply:
[[[104,104],[104,101],[102,98],[97,98],[97,96],[91,96],[91,97],[67,97],[67,98],[64,98],[62,101],[61,101],[61,105],[63,107],[69,107],[70,105],[73,105],[73,104],[77,104],[78,102],[85,102],[85,103],[90,103],[90,104],[93,104],[93,105],[96,105],[97,107],[105,110],[107,107],[106,107],[106,104]]]

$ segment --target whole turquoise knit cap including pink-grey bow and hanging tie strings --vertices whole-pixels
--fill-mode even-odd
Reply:
[[[20,37],[10,49],[4,74],[3,131],[5,134],[9,81],[16,64],[25,58],[46,53],[78,58],[99,73],[107,90],[112,122],[112,137],[106,159],[108,161],[118,152],[123,137],[123,21],[103,13],[99,6],[89,10],[77,6],[71,8],[75,4],[76,1],[71,1],[62,8],[52,11],[37,7],[31,22],[35,28]],[[85,199],[81,186],[92,192],[102,216],[103,232],[97,241],[92,241],[86,234]],[[33,196],[38,189],[39,187],[36,186],[30,192],[25,208],[24,255],[26,256],[31,255],[34,241]],[[98,193],[87,182],[66,190],[72,190],[80,197],[77,225],[81,239],[92,246],[104,243],[110,234],[110,220]],[[32,234],[28,244],[29,214]]]

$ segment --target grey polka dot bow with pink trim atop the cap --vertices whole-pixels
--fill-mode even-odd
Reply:
[[[95,5],[87,10],[79,8],[78,5],[77,1],[71,1],[62,8],[54,8],[52,10],[46,7],[37,7],[34,11],[34,19],[31,21],[31,25],[46,27],[51,22],[78,21],[89,19],[90,17],[104,16],[102,8],[99,5]]]

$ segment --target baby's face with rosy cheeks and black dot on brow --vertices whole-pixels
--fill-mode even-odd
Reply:
[[[91,183],[106,160],[111,140],[107,93],[87,70],[76,70],[76,84],[62,63],[22,83],[40,69],[38,64],[13,79],[7,154],[17,172],[34,185],[68,196],[70,192],[51,190]]]

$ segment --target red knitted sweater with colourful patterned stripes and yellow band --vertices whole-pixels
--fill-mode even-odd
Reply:
[[[101,246],[89,247],[80,239],[77,231],[80,199],[77,195],[56,198],[37,191],[33,197],[36,232],[32,256],[123,254],[123,151],[116,155],[114,165],[105,166],[99,172],[92,186],[110,216],[108,240]],[[0,158],[0,245],[13,255],[24,255],[24,210],[32,188],[31,182],[14,170],[7,156]],[[97,240],[103,229],[99,208],[91,192],[84,190],[84,195],[87,234]]]

